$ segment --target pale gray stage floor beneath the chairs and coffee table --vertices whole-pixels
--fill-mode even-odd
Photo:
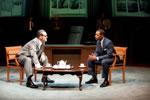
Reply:
[[[26,87],[24,74],[23,85],[19,85],[19,70],[11,69],[10,82],[7,79],[7,67],[0,67],[0,100],[149,100],[150,68],[140,66],[126,67],[126,83],[122,83],[121,70],[112,71],[112,86],[100,88],[101,74],[98,84],[85,84],[91,76],[84,74],[82,91],[79,91],[79,79],[76,75],[49,75],[55,83],[48,84],[43,91],[42,74],[37,75],[38,89]],[[33,77],[34,79],[34,77]]]

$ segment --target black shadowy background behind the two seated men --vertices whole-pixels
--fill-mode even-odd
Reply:
[[[150,65],[149,17],[113,17],[111,0],[88,0],[88,17],[61,17],[64,28],[55,34],[49,28],[51,19],[41,16],[40,0],[28,0],[25,16],[0,17],[0,64],[6,64],[5,46],[24,45],[36,36],[38,29],[48,33],[47,44],[68,44],[72,26],[83,26],[80,44],[95,45],[96,20],[102,12],[111,20],[112,41],[115,46],[127,46],[127,64]],[[34,2],[34,3],[33,3]],[[149,4],[149,3],[148,3]],[[148,5],[147,5],[148,6]],[[30,10],[29,8],[32,7]],[[146,10],[148,11],[148,9]],[[32,33],[25,31],[25,23],[33,15],[36,28]],[[74,37],[72,37],[74,38]],[[54,41],[55,40],[55,41]]]

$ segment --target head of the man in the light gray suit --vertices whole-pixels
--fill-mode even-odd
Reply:
[[[41,42],[47,42],[47,33],[45,30],[40,29],[37,31],[37,38],[41,41]]]

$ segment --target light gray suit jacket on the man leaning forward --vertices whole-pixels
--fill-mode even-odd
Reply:
[[[27,57],[31,57],[34,64],[39,63],[39,57],[42,53],[44,53],[44,45],[42,43],[41,49],[39,49],[39,40],[38,38],[34,38],[28,43],[26,43],[23,48],[18,52],[19,55],[24,55]]]

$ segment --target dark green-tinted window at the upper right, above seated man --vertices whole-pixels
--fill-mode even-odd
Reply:
[[[113,16],[150,16],[150,0],[112,0]]]

